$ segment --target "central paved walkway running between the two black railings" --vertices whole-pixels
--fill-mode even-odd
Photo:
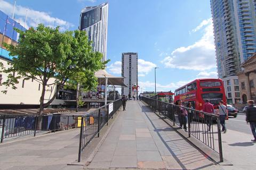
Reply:
[[[161,118],[127,101],[87,169],[220,169]]]

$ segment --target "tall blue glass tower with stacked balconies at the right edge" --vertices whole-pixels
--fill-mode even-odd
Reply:
[[[256,1],[211,0],[211,10],[218,76],[228,103],[234,104],[240,99],[236,76],[240,64],[256,52]]]

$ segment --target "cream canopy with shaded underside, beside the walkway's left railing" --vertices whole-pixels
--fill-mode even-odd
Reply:
[[[99,70],[94,73],[95,77],[98,78],[99,84],[106,84],[106,78],[108,78],[108,85],[127,87],[124,84],[124,77],[116,77],[109,74],[106,70]]]

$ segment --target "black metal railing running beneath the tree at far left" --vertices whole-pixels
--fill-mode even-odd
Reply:
[[[38,121],[38,120],[41,121]],[[0,114],[1,143],[37,133],[56,132],[77,128],[74,115],[13,115]]]

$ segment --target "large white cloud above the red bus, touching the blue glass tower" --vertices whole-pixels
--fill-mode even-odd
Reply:
[[[208,20],[207,20],[208,21]],[[202,23],[201,23],[202,24]],[[165,67],[185,70],[209,70],[216,66],[213,24],[204,29],[203,37],[193,45],[175,49],[161,61]]]

